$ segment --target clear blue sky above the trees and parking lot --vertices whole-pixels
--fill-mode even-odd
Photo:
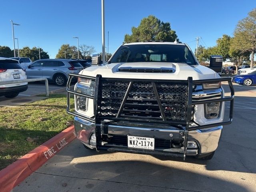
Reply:
[[[199,44],[216,44],[222,34],[232,36],[234,28],[255,5],[254,0],[105,0],[106,46],[109,31],[109,52],[113,53],[138,26],[142,18],[154,15],[170,22],[178,38],[194,50]],[[40,46],[55,58],[62,44],[92,45],[102,52],[101,0],[8,0],[0,6],[0,45],[13,49],[12,25],[19,48]],[[17,45],[16,45],[17,47]]]

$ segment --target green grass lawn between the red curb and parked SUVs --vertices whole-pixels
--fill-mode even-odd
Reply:
[[[74,103],[74,99],[70,98]],[[0,107],[0,170],[73,123],[66,95],[18,107]]]

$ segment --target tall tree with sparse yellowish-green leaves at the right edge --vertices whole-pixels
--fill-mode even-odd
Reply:
[[[234,31],[236,47],[242,52],[251,53],[251,64],[253,67],[254,54],[256,52],[256,8],[248,13],[248,16],[238,22]]]

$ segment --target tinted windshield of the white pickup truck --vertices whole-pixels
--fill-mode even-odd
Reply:
[[[109,63],[118,62],[174,62],[189,65],[196,64],[187,46],[174,44],[122,45]]]

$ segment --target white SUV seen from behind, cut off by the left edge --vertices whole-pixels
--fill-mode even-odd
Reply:
[[[23,80],[26,79],[25,69],[18,64],[17,60],[11,58],[0,57],[0,82]],[[18,96],[20,92],[24,92],[28,89],[28,83],[14,83],[0,85],[0,96],[6,98],[14,98]]]

